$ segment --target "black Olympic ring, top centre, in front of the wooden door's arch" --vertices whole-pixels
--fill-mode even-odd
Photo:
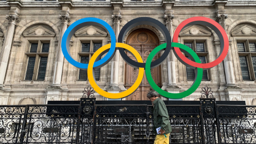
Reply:
[[[168,29],[163,25],[162,22],[160,22],[156,19],[147,18],[147,17],[146,18],[142,17],[142,18],[133,19],[133,20],[127,22],[124,25],[124,27],[121,29],[117,42],[118,43],[123,43],[124,37],[127,34],[127,32],[129,30],[131,30],[133,27],[139,26],[139,25],[149,25],[149,26],[153,26],[153,27],[157,28],[158,30],[160,30],[162,32],[162,34],[164,35],[164,38],[165,38],[165,42],[167,43],[166,48],[163,49],[163,50],[165,50],[164,53],[161,55],[160,58],[153,61],[151,66],[150,66],[151,68],[155,68],[155,67],[161,65],[161,63],[165,60],[165,58],[167,58],[168,54],[171,51],[171,45],[172,45],[171,44],[172,43],[171,42],[171,35],[170,35]],[[161,50],[161,51],[163,51],[163,50]],[[124,61],[127,62],[130,66],[132,66],[134,68],[145,68],[146,63],[139,63],[139,62],[136,62],[136,61],[132,60],[124,52],[124,49],[122,49],[122,48],[119,49],[119,52],[120,52],[122,58],[124,59]]]

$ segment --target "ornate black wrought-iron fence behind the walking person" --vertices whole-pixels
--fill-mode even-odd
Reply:
[[[217,105],[205,87],[199,105],[166,105],[171,143],[256,143],[256,106]],[[0,143],[154,143],[151,105],[0,106]],[[92,96],[92,97],[91,97]]]

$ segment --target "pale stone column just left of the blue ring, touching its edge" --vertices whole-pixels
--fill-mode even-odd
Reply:
[[[65,33],[68,27],[68,22],[70,22],[70,17],[69,17],[69,14],[64,14],[64,15],[59,15],[59,19],[61,20],[61,30],[59,35],[59,42],[58,42],[54,75],[53,75],[53,84],[52,84],[52,86],[57,86],[57,87],[60,87],[63,59],[64,59],[64,55],[61,50],[61,40],[62,40],[63,34]]]

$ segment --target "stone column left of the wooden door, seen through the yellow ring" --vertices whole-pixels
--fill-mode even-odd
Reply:
[[[121,22],[121,14],[112,15],[112,19],[114,22],[114,32],[116,35],[116,41],[120,31],[120,22]],[[118,76],[119,76],[119,50],[116,50],[114,58],[111,61],[111,79],[110,79],[110,87],[106,90],[111,93],[118,93],[121,89],[118,85]]]

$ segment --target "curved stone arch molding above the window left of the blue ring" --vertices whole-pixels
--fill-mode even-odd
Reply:
[[[15,36],[14,36],[14,41],[19,41],[20,40],[20,36],[22,35],[22,33],[23,33],[23,31],[25,29],[27,29],[28,27],[30,27],[32,25],[38,24],[38,23],[42,23],[42,24],[49,25],[50,27],[52,27],[52,29],[55,32],[55,35],[57,36],[57,40],[58,40],[60,30],[59,30],[59,28],[56,25],[54,25],[54,23],[52,23],[49,20],[35,20],[35,21],[31,21],[31,22],[27,23],[20,30],[18,30],[18,33],[15,34]]]

